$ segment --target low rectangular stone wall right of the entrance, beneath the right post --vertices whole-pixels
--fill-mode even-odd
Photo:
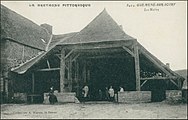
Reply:
[[[150,102],[151,91],[118,92],[119,103]]]

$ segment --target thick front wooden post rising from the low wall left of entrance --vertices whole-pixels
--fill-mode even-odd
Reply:
[[[60,92],[64,92],[64,80],[65,80],[65,50],[61,50],[60,60]]]

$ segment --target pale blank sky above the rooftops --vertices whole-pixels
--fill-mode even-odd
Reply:
[[[136,38],[164,64],[170,63],[172,70],[187,69],[186,1],[1,1],[1,4],[38,25],[52,25],[53,34],[79,32],[105,8],[126,34]],[[60,6],[41,7],[44,4]]]

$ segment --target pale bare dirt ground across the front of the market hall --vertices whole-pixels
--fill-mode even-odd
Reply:
[[[1,118],[171,118],[186,119],[187,104],[170,105],[158,103],[67,103],[45,104],[3,104]]]

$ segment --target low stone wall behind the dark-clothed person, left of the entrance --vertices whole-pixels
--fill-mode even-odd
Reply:
[[[44,93],[44,102],[45,104],[49,103],[49,93]],[[54,93],[57,97],[58,103],[78,103],[79,101],[76,98],[75,92],[68,92],[68,93]]]

